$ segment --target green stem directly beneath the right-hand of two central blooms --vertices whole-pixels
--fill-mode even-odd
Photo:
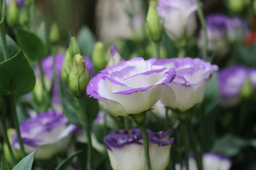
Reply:
[[[186,162],[186,170],[189,170],[189,145],[188,145],[188,128],[187,122],[182,121],[180,124],[181,132],[182,132],[182,141],[185,145],[185,162]]]

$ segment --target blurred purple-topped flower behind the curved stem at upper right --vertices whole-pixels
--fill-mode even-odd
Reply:
[[[228,52],[228,36],[227,30],[230,18],[222,14],[212,14],[206,17],[206,27],[208,35],[208,50],[212,51],[216,56],[224,56]],[[200,31],[198,38],[199,47],[204,47],[204,31]]]

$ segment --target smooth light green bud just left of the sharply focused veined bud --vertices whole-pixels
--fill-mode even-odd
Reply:
[[[66,51],[65,59],[62,64],[62,71],[61,71],[61,80],[65,83],[68,83],[68,77],[71,72],[71,68],[73,66],[73,59],[69,53],[69,51]]]

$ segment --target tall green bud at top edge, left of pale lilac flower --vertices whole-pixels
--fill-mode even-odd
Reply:
[[[156,6],[157,6],[157,1],[151,0],[149,3],[146,22],[148,25],[151,39],[153,41],[160,41],[164,33],[164,28],[162,25],[162,21],[156,10]]]

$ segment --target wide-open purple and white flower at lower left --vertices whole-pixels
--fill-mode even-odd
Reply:
[[[36,149],[35,157],[48,159],[67,149],[70,134],[76,129],[75,125],[67,125],[68,119],[63,114],[49,111],[27,119],[20,125],[24,148],[27,153]],[[19,150],[17,133],[13,134],[12,145]]]

